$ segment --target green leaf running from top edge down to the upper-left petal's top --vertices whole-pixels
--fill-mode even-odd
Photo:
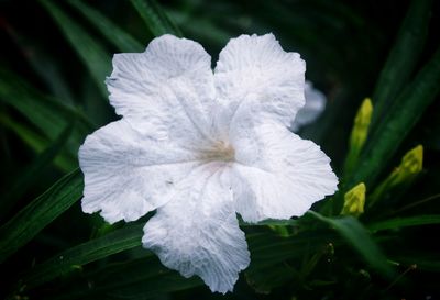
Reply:
[[[166,33],[183,36],[180,30],[169,20],[155,0],[131,0],[131,3],[155,36]]]

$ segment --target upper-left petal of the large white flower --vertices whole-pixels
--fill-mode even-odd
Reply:
[[[116,54],[107,85],[110,103],[138,131],[163,140],[209,135],[211,57],[194,41],[167,34],[144,53]]]

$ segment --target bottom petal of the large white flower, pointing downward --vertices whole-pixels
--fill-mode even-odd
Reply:
[[[212,291],[231,291],[250,254],[221,163],[196,170],[144,227],[143,245],[168,268],[198,275]],[[219,169],[220,168],[220,169]]]

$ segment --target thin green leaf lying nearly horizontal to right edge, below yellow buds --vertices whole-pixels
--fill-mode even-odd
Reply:
[[[440,214],[426,214],[426,215],[388,219],[375,222],[373,224],[369,224],[367,227],[372,232],[377,232],[383,230],[396,230],[402,227],[431,225],[431,224],[440,224]]]

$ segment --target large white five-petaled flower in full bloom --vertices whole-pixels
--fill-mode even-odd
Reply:
[[[212,291],[232,290],[250,263],[235,213],[289,219],[337,190],[329,157],[287,130],[305,68],[272,34],[232,38],[213,73],[198,43],[172,35],[116,54],[107,86],[123,118],[79,151],[82,210],[110,223],[157,210],[144,247]]]

